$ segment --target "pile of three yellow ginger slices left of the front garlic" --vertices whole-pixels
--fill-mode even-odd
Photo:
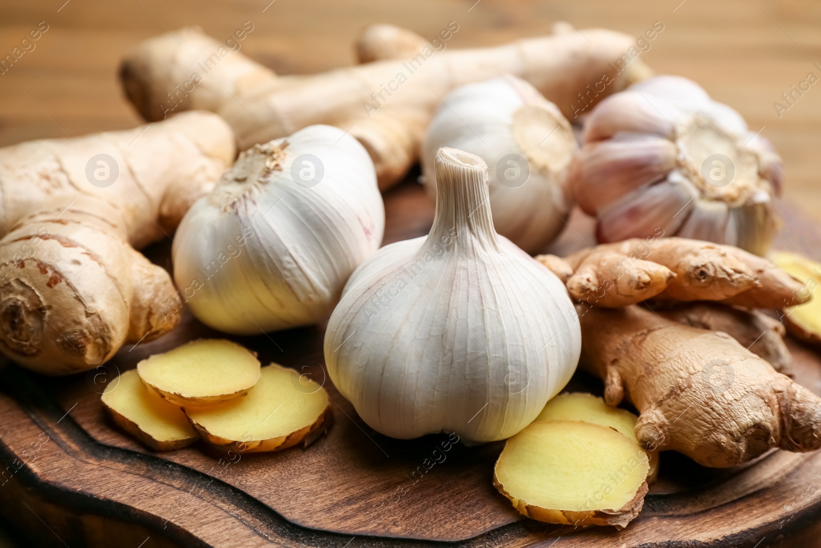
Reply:
[[[327,429],[328,392],[287,367],[261,367],[224,339],[199,339],[140,361],[112,380],[103,406],[156,451],[204,440],[238,453],[310,444]]]

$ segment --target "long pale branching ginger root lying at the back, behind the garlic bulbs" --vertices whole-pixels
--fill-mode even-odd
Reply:
[[[621,71],[614,68],[633,46],[633,37],[603,29],[583,32],[436,53],[410,31],[378,25],[357,44],[360,61],[373,62],[313,76],[276,76],[232,52],[207,76],[198,75],[198,85],[189,92],[181,84],[191,81],[200,63],[223,46],[188,28],[138,45],[123,59],[120,76],[129,99],[147,120],[170,111],[211,110],[231,125],[242,150],[313,124],[341,127],[365,146],[379,187],[387,188],[418,159],[434,110],[460,85],[510,73],[529,81],[566,117],[574,117],[579,94],[603,76],[610,83],[593,97],[588,93],[585,102],[647,76],[640,60]]]

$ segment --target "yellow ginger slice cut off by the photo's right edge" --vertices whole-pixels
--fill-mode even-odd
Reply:
[[[796,338],[806,343],[821,344],[821,263],[788,251],[773,251],[770,260],[806,285],[810,302],[800,304],[800,299],[784,302],[784,324]],[[800,297],[800,296],[796,296]]]

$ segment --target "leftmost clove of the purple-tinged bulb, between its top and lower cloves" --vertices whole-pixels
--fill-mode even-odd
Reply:
[[[656,136],[621,134],[588,143],[573,161],[568,184],[576,202],[594,215],[621,196],[662,180],[676,166],[676,145]]]

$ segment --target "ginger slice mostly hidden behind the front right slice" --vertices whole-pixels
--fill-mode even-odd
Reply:
[[[544,406],[539,417],[534,422],[552,421],[581,421],[599,426],[612,428],[621,435],[626,435],[636,444],[635,422],[639,417],[626,409],[613,408],[593,394],[571,392],[559,394]],[[650,472],[648,483],[653,483],[658,477],[658,451],[647,451]]]

